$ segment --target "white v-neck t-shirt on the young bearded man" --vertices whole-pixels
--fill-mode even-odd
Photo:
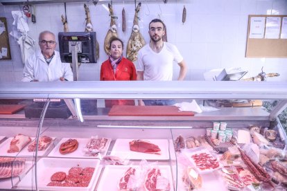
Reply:
[[[137,71],[143,71],[143,80],[173,80],[173,61],[182,62],[183,57],[176,46],[164,42],[162,51],[155,53],[146,44],[137,55]]]

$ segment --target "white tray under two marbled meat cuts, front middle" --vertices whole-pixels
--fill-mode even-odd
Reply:
[[[136,170],[139,168],[137,165],[125,166],[125,165],[106,165],[105,170],[101,176],[101,180],[98,183],[96,190],[103,191],[116,191],[118,189],[118,183],[123,174],[128,170],[129,167],[134,167]],[[171,190],[173,190],[173,178],[171,176],[171,167],[168,165],[159,165],[159,170],[163,176],[169,180]],[[143,186],[138,191],[144,191]]]

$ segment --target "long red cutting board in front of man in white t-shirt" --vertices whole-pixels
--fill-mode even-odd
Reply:
[[[114,105],[108,116],[194,116],[194,113],[178,111],[175,106]]]

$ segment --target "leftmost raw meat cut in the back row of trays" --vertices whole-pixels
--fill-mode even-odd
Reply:
[[[8,149],[8,153],[12,152],[20,152],[28,143],[31,142],[31,138],[29,136],[23,134],[17,134],[10,143],[10,149]]]

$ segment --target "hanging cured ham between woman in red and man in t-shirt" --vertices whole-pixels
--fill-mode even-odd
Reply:
[[[141,3],[137,5],[134,13],[134,26],[132,26],[132,34],[130,35],[127,46],[127,58],[132,62],[137,60],[137,52],[144,46],[144,44],[146,44],[143,36],[139,33],[139,17],[137,15],[140,8]]]

